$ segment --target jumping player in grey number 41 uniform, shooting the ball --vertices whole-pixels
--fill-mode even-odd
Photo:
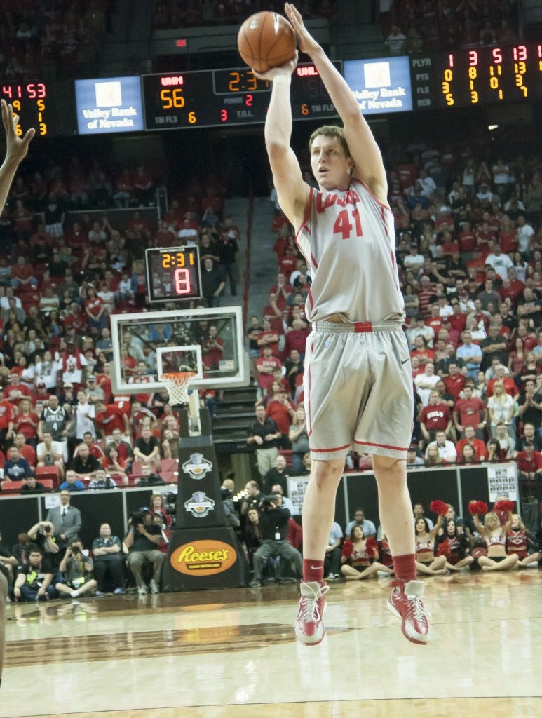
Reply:
[[[290,80],[296,60],[262,75],[272,80],[265,139],[279,203],[296,230],[312,274],[304,396],[311,474],[303,505],[303,580],[296,636],[324,637],[324,555],[345,454],[372,454],[380,522],[396,581],[388,607],[403,634],[426,643],[423,582],[416,580],[406,454],[411,438],[412,376],[401,329],[404,308],[394,258],[393,215],[380,150],[352,92],[304,27],[284,6],[299,48],[314,62],[344,129],[324,126],[309,140],[319,189],[302,178],[290,148]]]

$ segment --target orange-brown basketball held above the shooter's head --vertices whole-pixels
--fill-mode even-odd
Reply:
[[[266,73],[296,54],[296,35],[285,17],[262,11],[248,17],[239,28],[237,47],[248,67]]]

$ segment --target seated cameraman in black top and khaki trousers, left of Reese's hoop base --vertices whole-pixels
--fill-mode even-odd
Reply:
[[[141,575],[141,568],[145,561],[150,561],[153,568],[150,582],[151,593],[159,593],[162,564],[166,557],[158,548],[163,541],[162,531],[156,523],[153,523],[149,508],[142,508],[132,514],[129,526],[129,531],[124,538],[124,544],[129,551],[126,563],[134,574],[138,593],[140,596],[148,593]]]

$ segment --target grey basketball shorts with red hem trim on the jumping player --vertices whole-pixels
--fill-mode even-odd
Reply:
[[[312,459],[340,459],[350,447],[406,459],[413,388],[401,325],[314,322],[304,364]]]

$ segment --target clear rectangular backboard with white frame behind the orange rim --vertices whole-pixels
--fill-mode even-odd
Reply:
[[[241,307],[111,315],[113,393],[160,391],[162,373],[195,371],[191,388],[246,386]]]

